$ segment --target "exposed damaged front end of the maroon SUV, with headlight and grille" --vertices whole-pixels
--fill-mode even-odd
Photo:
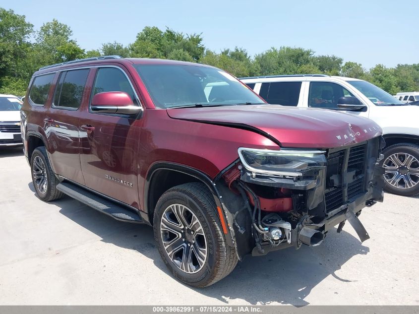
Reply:
[[[369,239],[358,216],[383,200],[383,147],[379,136],[324,150],[239,148],[215,180],[239,258],[317,246],[346,221],[361,242]]]

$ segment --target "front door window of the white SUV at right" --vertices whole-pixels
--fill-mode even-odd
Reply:
[[[343,86],[330,82],[310,82],[308,107],[338,108],[341,97],[354,95]]]

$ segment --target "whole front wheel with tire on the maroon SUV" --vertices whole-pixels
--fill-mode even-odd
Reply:
[[[154,212],[154,237],[167,267],[182,282],[206,287],[238,262],[226,243],[214,198],[200,183],[166,191]]]

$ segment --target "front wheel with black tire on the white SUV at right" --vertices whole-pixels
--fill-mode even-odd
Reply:
[[[419,146],[410,143],[391,145],[383,154],[385,190],[404,196],[419,194]]]

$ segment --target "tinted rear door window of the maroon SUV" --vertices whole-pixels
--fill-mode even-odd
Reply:
[[[77,109],[80,107],[89,69],[61,72],[54,94],[54,106]]]

